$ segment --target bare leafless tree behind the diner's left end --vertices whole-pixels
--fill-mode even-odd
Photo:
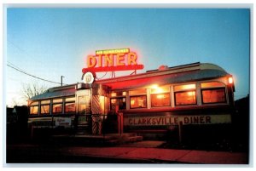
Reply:
[[[22,85],[21,95],[25,100],[31,99],[33,96],[44,93],[48,88],[45,85],[38,85],[38,83],[24,83]]]

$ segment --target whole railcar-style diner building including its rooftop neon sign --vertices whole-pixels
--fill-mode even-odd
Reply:
[[[137,64],[137,54],[127,48],[96,54],[102,57],[90,56],[90,67],[83,69],[84,83],[49,88],[29,100],[31,126],[107,134],[118,131],[111,127],[122,121],[125,133],[166,134],[180,125],[232,123],[235,86],[221,67],[206,63],[160,66],[141,74],[135,71],[96,80],[97,71],[143,68]],[[111,55],[115,62],[109,60],[114,57],[107,59]]]

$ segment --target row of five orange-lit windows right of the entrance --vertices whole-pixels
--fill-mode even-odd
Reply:
[[[151,107],[171,106],[171,88],[173,88],[173,100],[175,106],[197,105],[196,84],[184,84],[171,87],[152,86],[150,88]],[[225,85],[220,82],[200,83],[201,104],[226,103]],[[126,92],[113,92],[111,94],[111,108],[119,106],[119,109],[147,108],[147,89],[129,91],[130,106],[126,106]]]

